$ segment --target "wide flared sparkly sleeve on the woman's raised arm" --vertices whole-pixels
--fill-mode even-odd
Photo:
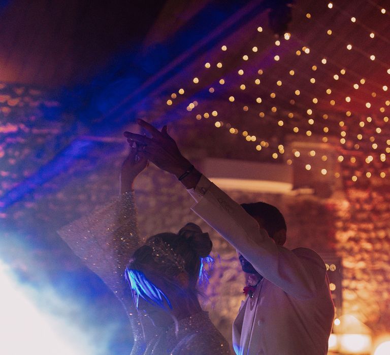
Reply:
[[[123,272],[140,244],[134,194],[127,192],[62,227],[58,234],[120,299]]]

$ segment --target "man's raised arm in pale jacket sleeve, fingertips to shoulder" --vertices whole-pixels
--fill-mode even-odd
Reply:
[[[182,156],[166,126],[159,131],[145,121],[138,120],[138,123],[151,137],[131,132],[124,135],[138,143],[139,154],[176,175],[196,201],[191,209],[197,215],[231,243],[260,274],[288,294],[298,298],[316,294],[318,273],[321,276],[323,273],[324,278],[325,268],[314,252],[297,255],[276,245],[255,219]],[[318,272],[313,273],[313,270]]]

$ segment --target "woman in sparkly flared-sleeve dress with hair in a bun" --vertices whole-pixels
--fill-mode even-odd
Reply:
[[[133,183],[147,161],[133,141],[129,144],[120,196],[58,234],[126,309],[134,336],[132,355],[230,354],[197,297],[203,263],[210,260],[209,235],[188,223],[178,234],[159,233],[141,244]]]

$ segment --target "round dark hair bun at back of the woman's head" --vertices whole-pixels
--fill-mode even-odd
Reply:
[[[187,223],[179,230],[179,236],[186,239],[188,246],[199,257],[207,257],[213,247],[209,233],[203,233],[201,227],[194,223]]]

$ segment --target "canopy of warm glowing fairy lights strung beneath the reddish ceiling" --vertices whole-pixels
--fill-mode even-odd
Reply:
[[[375,5],[372,2],[369,4]],[[385,9],[382,12],[381,9],[378,9],[380,10],[378,16],[388,16],[388,12]],[[351,15],[350,11],[340,9],[335,2],[324,5],[321,11],[324,14],[320,20],[315,21],[314,14],[301,10],[302,21],[309,21],[309,27],[316,26],[316,30],[322,32],[322,38],[342,44],[345,56],[352,55],[355,58],[356,55],[361,56],[361,60],[367,62],[366,72],[360,73],[356,71],[355,66],[333,59],[333,53],[327,53],[327,46],[321,47],[320,51],[318,47],[311,48],[310,40],[309,42],[301,40],[294,33],[285,33],[274,40],[271,47],[263,45],[259,37],[253,35],[253,40],[248,41],[245,46],[247,49],[242,50],[241,53],[234,53],[233,45],[221,44],[215,59],[209,57],[206,62],[203,62],[203,69],[200,69],[198,75],[192,77],[188,88],[201,86],[206,82],[203,91],[207,91],[209,96],[192,99],[188,102],[186,110],[190,114],[196,112],[194,117],[197,121],[212,119],[216,129],[241,136],[248,143],[253,144],[259,154],[270,154],[273,159],[283,159],[287,164],[291,164],[291,157],[299,159],[301,154],[291,151],[288,159],[282,158],[286,153],[283,140],[285,134],[293,134],[297,139],[307,139],[316,144],[327,144],[330,138],[338,136],[338,163],[349,160],[356,166],[360,166],[362,162],[365,166],[365,168],[360,167],[362,171],[350,176],[352,182],[357,181],[358,177],[369,179],[373,176],[374,170],[370,171],[373,162],[382,163],[379,176],[383,178],[389,172],[386,162],[389,159],[390,140],[386,139],[386,133],[390,106],[388,84],[390,64],[378,57],[378,53],[365,50],[365,46],[370,46],[370,42],[367,41],[387,43],[388,40],[361,21],[358,13]],[[361,28],[367,37],[365,41],[353,42],[346,39],[344,33],[337,33],[337,30],[327,28],[326,20],[331,13],[334,15],[335,12],[343,18],[346,27],[350,25]],[[257,26],[254,32],[263,35],[263,41],[269,35],[262,26]],[[263,47],[267,47],[268,58],[262,54],[265,52]],[[238,59],[235,65],[226,67],[224,61],[232,54]],[[291,59],[293,57],[294,59]],[[258,58],[261,59],[260,64]],[[269,64],[268,66],[271,67],[268,68],[264,62],[270,60],[272,64]],[[302,64],[297,64],[298,61],[307,64],[307,68],[303,69]],[[257,68],[255,72],[256,64],[261,68]],[[382,83],[371,78],[372,65],[377,72],[380,72]],[[273,70],[276,66],[279,71]],[[283,68],[283,75],[280,75],[280,68]],[[207,80],[208,77],[214,78],[211,84]],[[172,93],[167,99],[167,104],[173,105],[183,94],[183,89]],[[216,97],[224,100],[223,108],[211,107]],[[226,104],[230,105],[228,110]],[[233,108],[232,112],[241,111],[243,120],[238,122],[232,119],[231,123],[228,122],[231,120],[226,116],[229,108]],[[247,124],[247,120],[252,122],[263,120],[270,123],[273,130],[279,128],[283,132],[279,134],[280,140],[271,143],[262,133],[258,134],[256,128],[252,128],[253,124]],[[268,153],[265,153],[267,151]],[[309,156],[322,162],[328,161],[326,155],[315,154],[314,149],[309,150]],[[310,164],[306,167],[307,170],[311,169]],[[326,174],[326,167],[320,168],[319,172]],[[340,176],[338,170],[335,176]]]

